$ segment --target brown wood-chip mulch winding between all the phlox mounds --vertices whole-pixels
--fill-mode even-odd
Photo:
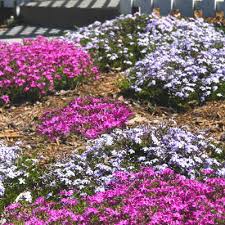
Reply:
[[[61,91],[55,96],[44,97],[35,104],[25,103],[10,108],[0,108],[0,139],[8,144],[22,142],[24,151],[35,155],[41,162],[47,163],[57,158],[65,157],[77,150],[82,152],[86,140],[78,135],[71,135],[66,141],[52,143],[36,133],[38,118],[49,109],[58,109],[78,96],[108,96],[127,103],[134,112],[127,125],[135,126],[143,123],[163,124],[170,123],[187,127],[194,132],[206,131],[208,136],[221,140],[225,133],[225,101],[210,102],[204,106],[177,114],[168,108],[149,107],[139,105],[137,102],[125,99],[120,94],[118,80],[121,75],[117,73],[103,74],[101,79],[88,82],[76,90]],[[223,139],[223,138],[222,138]]]

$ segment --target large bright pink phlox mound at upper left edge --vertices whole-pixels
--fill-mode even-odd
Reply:
[[[35,100],[92,76],[98,70],[90,55],[72,43],[44,37],[0,43],[0,104]]]

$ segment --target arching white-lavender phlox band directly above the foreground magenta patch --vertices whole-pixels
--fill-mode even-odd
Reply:
[[[52,188],[75,188],[77,193],[102,191],[116,171],[136,171],[141,166],[165,168],[190,178],[199,178],[202,170],[225,177],[224,162],[209,154],[221,150],[201,135],[180,128],[137,127],[115,130],[88,142],[81,155],[54,163],[43,176]],[[212,169],[214,172],[212,172]]]

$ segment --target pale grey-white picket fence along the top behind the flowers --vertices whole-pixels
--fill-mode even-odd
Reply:
[[[0,0],[5,7],[14,7],[22,2],[30,0]],[[39,0],[40,1],[40,0]],[[52,1],[52,0],[50,0]],[[69,0],[67,0],[69,1]],[[194,10],[202,10],[203,16],[212,17],[216,11],[223,11],[225,14],[225,0],[70,0],[74,2],[118,2],[121,14],[129,14],[133,7],[138,7],[142,13],[151,13],[154,8],[159,8],[161,15],[168,15],[171,11],[178,9],[183,16],[193,16]],[[100,4],[101,5],[101,4]]]

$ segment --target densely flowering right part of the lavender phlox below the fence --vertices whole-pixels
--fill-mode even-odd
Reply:
[[[203,20],[173,17],[152,19],[147,30],[164,38],[128,72],[136,92],[172,106],[225,97],[224,34]]]

